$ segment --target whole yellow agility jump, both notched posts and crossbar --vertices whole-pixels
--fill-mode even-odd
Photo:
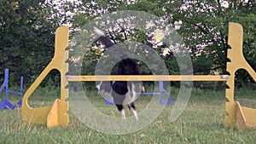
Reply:
[[[231,49],[228,49],[227,72],[228,77],[216,75],[139,75],[139,76],[66,76],[68,72],[68,26],[61,26],[55,32],[55,55],[49,62],[49,65],[39,75],[35,82],[27,89],[23,96],[22,120],[31,124],[46,124],[47,127],[68,124],[68,89],[65,86],[71,81],[129,81],[137,78],[140,81],[226,81],[228,88],[225,90],[224,118],[225,127],[236,127],[241,130],[247,128],[256,128],[256,109],[241,107],[239,102],[234,100],[235,90],[235,73],[239,69],[245,69],[256,81],[256,73],[253,68],[248,65],[242,55],[242,26],[236,23],[229,23],[229,39],[228,43]],[[53,106],[32,108],[28,105],[28,99],[38,85],[42,83],[46,75],[53,69],[57,69],[61,73],[61,99],[56,99]]]

